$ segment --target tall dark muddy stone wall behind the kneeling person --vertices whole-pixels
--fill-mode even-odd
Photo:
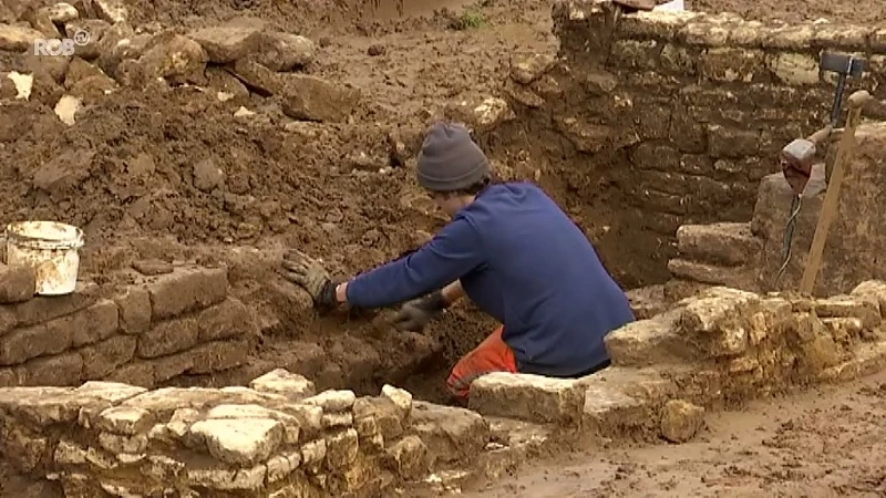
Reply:
[[[821,51],[868,58],[846,95],[867,89],[878,100],[868,116],[886,117],[886,29],[626,14],[595,0],[553,15],[558,60],[515,58],[506,94],[519,118],[488,142],[539,143],[548,185],[598,227],[629,287],[668,279],[681,225],[750,219],[777,152],[830,116],[835,80],[820,72]]]

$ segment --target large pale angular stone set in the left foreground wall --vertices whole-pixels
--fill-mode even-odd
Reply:
[[[271,418],[207,419],[190,426],[220,461],[253,465],[266,460],[284,439],[284,425]]]

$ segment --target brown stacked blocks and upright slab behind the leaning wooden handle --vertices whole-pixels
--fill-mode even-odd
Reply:
[[[866,124],[856,132],[857,146],[831,227],[815,294],[849,292],[862,281],[886,278],[878,248],[886,243],[880,214],[886,188],[886,123]],[[767,175],[760,185],[750,222],[687,225],[677,232],[677,258],[668,268],[674,280],[667,287],[677,297],[693,287],[730,286],[752,291],[796,289],[806,266],[824,193],[805,198],[791,245],[791,261],[779,281],[784,229],[792,191],[784,177]]]

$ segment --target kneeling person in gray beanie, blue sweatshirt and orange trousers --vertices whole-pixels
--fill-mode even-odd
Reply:
[[[553,199],[529,183],[492,183],[485,155],[454,124],[431,128],[418,179],[452,218],[430,242],[341,283],[297,255],[284,263],[290,279],[320,305],[409,301],[396,321],[413,331],[467,295],[502,325],[453,369],[446,385],[459,397],[491,372],[575,377],[609,364],[604,336],[633,313],[590,241]]]

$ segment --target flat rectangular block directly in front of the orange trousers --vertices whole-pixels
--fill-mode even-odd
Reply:
[[[584,394],[573,380],[494,372],[471,384],[468,408],[481,415],[575,424]]]

